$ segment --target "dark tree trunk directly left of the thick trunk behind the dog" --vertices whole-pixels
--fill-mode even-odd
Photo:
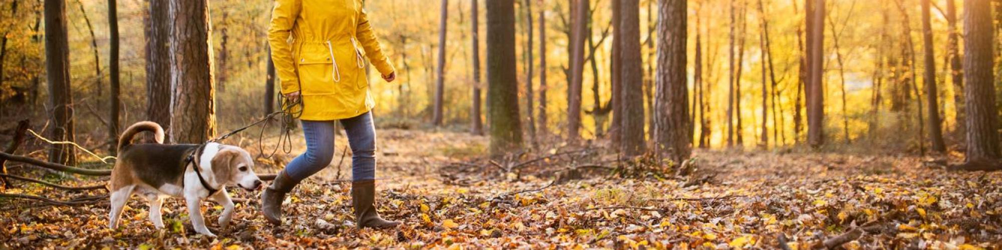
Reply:
[[[164,143],[173,142],[170,136],[170,18],[169,0],[149,0],[149,15],[145,19],[146,37],[146,118],[160,124],[166,133]],[[150,137],[151,138],[151,137]]]

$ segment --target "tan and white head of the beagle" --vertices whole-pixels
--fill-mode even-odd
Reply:
[[[212,157],[212,172],[220,183],[235,184],[246,190],[262,186],[261,179],[254,172],[250,153],[240,147],[219,145],[219,152]]]

